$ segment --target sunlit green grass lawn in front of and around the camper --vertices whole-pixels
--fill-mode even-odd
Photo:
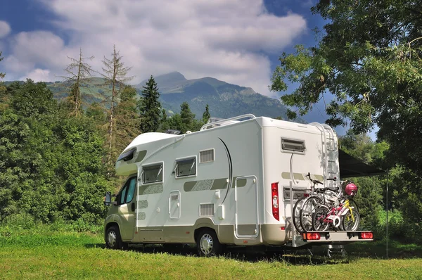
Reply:
[[[0,236],[1,279],[421,279],[421,246],[359,243],[347,258],[304,253],[196,257],[194,248],[108,250],[101,234],[19,231]]]

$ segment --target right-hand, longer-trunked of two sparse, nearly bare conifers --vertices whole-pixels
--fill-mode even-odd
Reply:
[[[120,56],[120,51],[116,51],[116,46],[113,46],[113,53],[111,53],[111,59],[104,56],[103,60],[103,77],[106,79],[106,85],[110,89],[110,110],[108,114],[108,149],[112,151],[113,148],[113,129],[114,129],[114,117],[115,117],[115,106],[117,105],[117,98],[120,94],[120,90],[124,86],[125,82],[128,82],[133,77],[128,77],[127,74],[132,67],[124,67]],[[108,164],[111,162],[111,155],[108,155]]]

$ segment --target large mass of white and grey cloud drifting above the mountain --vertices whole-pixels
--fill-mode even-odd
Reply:
[[[269,95],[264,53],[280,53],[306,29],[300,15],[271,15],[260,0],[39,1],[59,18],[54,23],[68,44],[51,32],[17,34],[10,70],[56,74],[79,47],[96,56],[91,65],[101,70],[101,59],[110,57],[115,44],[133,66],[134,83],[178,70],[188,79],[216,77]]]

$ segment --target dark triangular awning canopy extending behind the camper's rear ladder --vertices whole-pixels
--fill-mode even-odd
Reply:
[[[338,149],[338,161],[340,162],[340,178],[387,174],[384,170],[367,165],[362,160],[354,158],[340,149]]]

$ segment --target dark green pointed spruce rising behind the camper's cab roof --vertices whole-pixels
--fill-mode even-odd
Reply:
[[[161,103],[158,101],[160,93],[153,75],[142,86],[142,95],[139,99],[139,111],[141,115],[141,131],[156,132],[160,127]]]

